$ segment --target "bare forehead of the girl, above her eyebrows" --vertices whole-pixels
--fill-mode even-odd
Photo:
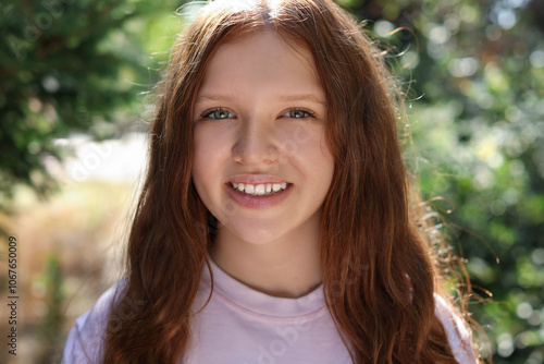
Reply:
[[[240,83],[322,93],[308,47],[272,31],[246,34],[219,46],[206,66],[200,92],[230,89]]]

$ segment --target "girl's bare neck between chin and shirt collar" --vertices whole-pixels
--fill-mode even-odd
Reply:
[[[221,269],[257,291],[299,298],[321,283],[319,227],[308,228],[256,244],[219,226],[211,256]]]

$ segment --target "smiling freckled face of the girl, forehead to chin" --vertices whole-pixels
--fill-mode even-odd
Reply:
[[[193,179],[218,239],[311,239],[334,171],[306,47],[260,31],[221,45],[194,107]]]

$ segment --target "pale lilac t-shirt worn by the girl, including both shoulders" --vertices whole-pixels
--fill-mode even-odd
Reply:
[[[325,306],[322,286],[299,299],[275,298],[245,286],[211,264],[213,294],[193,317],[191,341],[181,363],[351,363]],[[205,266],[195,312],[207,301],[210,282]],[[119,286],[110,288],[90,311],[77,318],[66,340],[63,364],[101,362],[108,314]],[[460,364],[475,363],[470,335],[462,321],[442,298],[436,295],[435,300],[435,314],[444,324],[455,357]],[[122,311],[129,315],[131,310],[138,310],[138,303]]]

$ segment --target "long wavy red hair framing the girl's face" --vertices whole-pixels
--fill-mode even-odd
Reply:
[[[210,214],[191,180],[194,99],[214,50],[259,29],[310,49],[325,90],[335,172],[321,222],[321,269],[354,362],[457,363],[434,315],[442,281],[400,150],[400,93],[380,50],[331,0],[214,1],[180,35],[158,89],[128,277],[112,307],[104,363],[174,363],[187,350],[213,244]]]

